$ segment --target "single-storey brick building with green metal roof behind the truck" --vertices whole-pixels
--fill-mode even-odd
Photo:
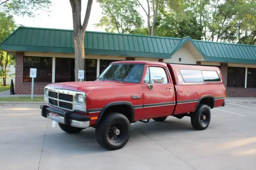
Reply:
[[[93,81],[112,61],[146,60],[217,66],[228,97],[256,97],[256,45],[86,32],[85,79]],[[73,31],[17,28],[1,48],[16,55],[16,94],[30,94],[30,68],[37,68],[35,94],[49,83],[74,81]]]

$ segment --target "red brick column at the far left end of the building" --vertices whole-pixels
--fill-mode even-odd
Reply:
[[[15,93],[22,94],[23,88],[23,63],[24,63],[24,53],[16,52],[16,64],[15,64]]]

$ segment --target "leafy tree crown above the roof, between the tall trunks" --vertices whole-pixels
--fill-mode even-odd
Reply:
[[[142,16],[136,10],[136,0],[98,0],[102,8],[102,19],[97,27],[105,28],[106,32],[130,33],[141,28]]]

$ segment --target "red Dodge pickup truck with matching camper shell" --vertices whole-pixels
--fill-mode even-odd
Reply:
[[[226,89],[218,67],[150,61],[113,62],[95,81],[52,83],[44,89],[41,115],[67,133],[96,130],[100,146],[122,148],[130,123],[188,116],[204,130],[210,109],[225,105]]]

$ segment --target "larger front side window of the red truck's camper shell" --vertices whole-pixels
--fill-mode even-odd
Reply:
[[[184,82],[203,82],[201,70],[180,70]]]

